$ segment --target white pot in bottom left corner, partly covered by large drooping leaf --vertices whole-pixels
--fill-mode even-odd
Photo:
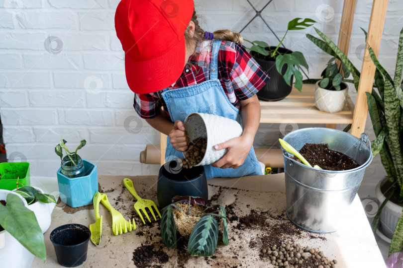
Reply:
[[[28,207],[25,199],[20,195],[8,190],[0,190],[0,200],[6,200],[8,194],[16,195],[21,203]],[[7,268],[29,268],[34,259],[34,255],[22,246],[7,231],[0,232],[0,267]]]

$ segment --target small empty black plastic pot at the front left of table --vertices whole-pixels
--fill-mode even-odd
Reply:
[[[57,262],[65,267],[76,267],[87,260],[91,231],[87,226],[71,223],[57,227],[50,233]]]

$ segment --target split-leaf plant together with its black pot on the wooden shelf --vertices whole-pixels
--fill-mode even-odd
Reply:
[[[290,94],[295,77],[295,87],[302,90],[301,67],[308,70],[308,65],[303,54],[299,51],[291,51],[280,48],[288,31],[302,30],[311,26],[315,21],[309,18],[295,18],[287,25],[287,31],[277,47],[270,47],[263,41],[249,41],[251,55],[270,76],[267,83],[257,94],[258,98],[266,101],[284,99]],[[275,68],[274,68],[275,67]]]

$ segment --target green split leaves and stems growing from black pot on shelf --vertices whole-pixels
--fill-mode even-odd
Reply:
[[[301,21],[302,20],[302,21]],[[300,71],[300,66],[305,67],[308,70],[308,64],[306,63],[305,57],[299,51],[294,51],[291,54],[280,54],[278,52],[279,47],[284,41],[288,31],[294,30],[302,30],[306,29],[309,26],[312,26],[315,23],[313,19],[309,18],[295,18],[291,20],[287,25],[287,31],[281,39],[280,43],[274,50],[270,49],[270,46],[263,41],[249,41],[244,39],[245,41],[252,44],[252,47],[248,48],[250,51],[254,51],[260,55],[262,55],[263,59],[267,58],[266,56],[276,59],[276,69],[279,73],[282,73],[281,70],[284,65],[287,65],[287,70],[283,74],[283,78],[288,85],[291,85],[291,76],[295,76],[295,88],[299,91],[302,90],[302,73]],[[253,55],[252,55],[253,56]]]

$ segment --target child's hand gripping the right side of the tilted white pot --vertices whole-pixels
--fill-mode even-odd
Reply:
[[[225,168],[237,168],[245,162],[246,156],[252,148],[253,138],[248,136],[240,136],[231,138],[223,143],[214,145],[214,149],[222,150],[228,148],[227,153],[219,159],[217,162],[211,164],[213,167]]]

